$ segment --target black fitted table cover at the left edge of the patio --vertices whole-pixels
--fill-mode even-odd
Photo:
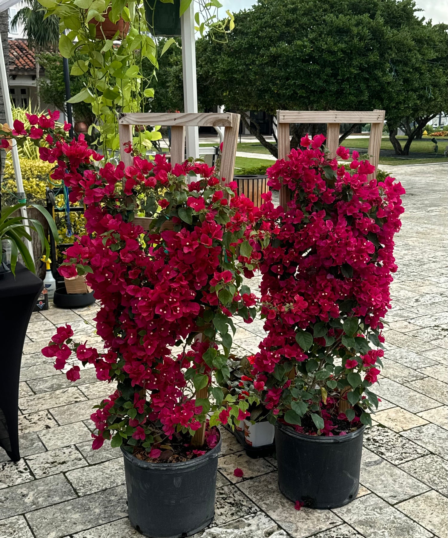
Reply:
[[[26,329],[44,282],[21,264],[16,278],[0,279],[0,446],[16,462],[20,459],[18,399],[20,362]]]

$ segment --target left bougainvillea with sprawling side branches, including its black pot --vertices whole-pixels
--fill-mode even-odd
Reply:
[[[82,363],[110,384],[92,415],[93,448],[105,440],[121,447],[132,525],[147,536],[194,534],[214,517],[220,419],[210,425],[208,413],[225,422],[248,415],[247,401],[230,405],[217,385],[229,377],[232,317],[255,315],[255,296],[241,287],[260,257],[251,246],[253,204],[201,162],[172,167],[161,155],[135,155],[130,167],[98,168],[102,156],[82,134],[40,131],[52,179],[86,205],[88,235],[67,249],[60,272],[86,275],[104,340],[102,352],[75,343],[67,325],[42,352],[56,369],[71,365],[69,380]],[[148,230],[136,215],[152,217]]]

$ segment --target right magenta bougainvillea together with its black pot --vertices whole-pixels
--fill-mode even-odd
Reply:
[[[267,336],[250,374],[275,423],[280,490],[314,508],[342,506],[358,491],[404,210],[400,183],[368,179],[375,168],[355,151],[346,171],[324,140],[303,137],[267,171],[291,201],[274,207],[269,193],[260,208],[257,228],[271,234],[260,248]],[[344,147],[337,154],[350,158]]]

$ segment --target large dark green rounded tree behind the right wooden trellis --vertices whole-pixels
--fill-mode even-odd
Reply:
[[[396,97],[406,104],[393,87],[401,62],[411,69],[421,56],[413,45],[417,27],[421,34],[433,31],[411,0],[259,0],[235,15],[227,44],[197,41],[198,95],[204,107],[238,111],[276,155],[247,110],[385,108],[392,117]],[[317,128],[291,126],[291,146]]]

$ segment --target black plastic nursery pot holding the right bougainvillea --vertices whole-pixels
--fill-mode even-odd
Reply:
[[[356,498],[365,426],[347,435],[296,433],[275,424],[280,491],[310,508],[337,508]]]

